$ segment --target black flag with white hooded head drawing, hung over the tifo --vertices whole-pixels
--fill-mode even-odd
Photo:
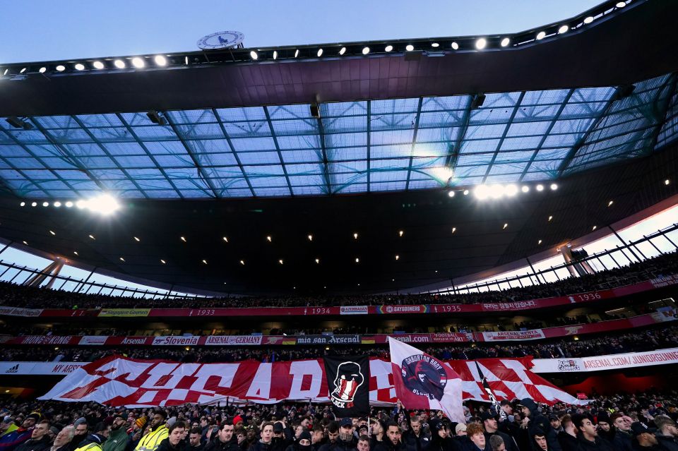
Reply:
[[[337,417],[369,415],[369,359],[325,357],[332,411]]]

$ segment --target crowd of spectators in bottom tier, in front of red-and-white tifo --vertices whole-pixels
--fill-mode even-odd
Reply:
[[[590,394],[587,406],[533,399],[436,410],[371,407],[338,418],[323,404],[128,409],[0,401],[3,451],[674,451],[675,392]]]

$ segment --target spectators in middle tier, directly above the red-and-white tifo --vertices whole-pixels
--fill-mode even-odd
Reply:
[[[419,344],[422,346],[422,344]],[[650,351],[678,347],[678,326],[661,327],[620,335],[590,339],[560,339],[556,342],[530,344],[429,345],[425,350],[439,359],[481,359],[487,357],[535,356],[540,359],[585,357],[625,352]],[[350,355],[354,346],[285,346],[285,347],[9,347],[0,349],[0,361],[95,361],[121,355],[133,359],[166,359],[182,362],[215,363],[254,359],[257,361],[289,361],[317,359],[323,355]],[[388,359],[388,347],[362,346],[360,354]]]

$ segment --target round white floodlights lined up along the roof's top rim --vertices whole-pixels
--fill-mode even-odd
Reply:
[[[624,8],[624,6],[626,6],[626,4],[627,4],[626,1],[618,1],[617,4],[615,4],[615,8],[616,9]],[[581,23],[563,24],[563,25],[559,25],[559,27],[557,29],[552,28],[552,29],[549,29],[549,30],[542,30],[540,32],[537,32],[537,34],[534,35],[534,37],[532,39],[529,39],[526,42],[518,42],[518,43],[515,43],[513,45],[520,45],[520,44],[524,44],[524,43],[527,43],[527,42],[533,42],[534,40],[540,41],[540,40],[543,40],[545,37],[550,37],[550,36],[554,36],[554,35],[563,35],[564,33],[569,32],[569,30],[579,28],[582,25],[588,25],[590,23],[593,23],[593,21],[596,18],[597,17],[594,17],[594,16],[588,16],[586,18],[583,18]],[[501,37],[494,38],[493,37],[493,38],[490,39],[490,38],[487,38],[487,37],[479,37],[479,38],[477,38],[477,40],[475,40],[475,42],[473,42],[472,47],[469,47],[469,48],[463,48],[464,44],[463,43],[459,44],[456,41],[446,42],[446,44],[449,44],[449,48],[451,48],[452,50],[459,50],[459,49],[462,49],[462,50],[472,50],[472,49],[484,50],[484,49],[487,49],[489,47],[492,47],[492,44],[496,44],[497,47],[509,47],[509,45],[511,44],[511,38],[510,37],[503,37],[503,38],[501,38]],[[404,47],[399,48],[399,47],[396,47],[393,44],[387,44],[383,48],[383,52],[386,52],[386,53],[393,52],[393,51],[396,51],[396,52],[398,52],[398,51],[400,51],[400,52],[403,52],[403,51],[414,52],[415,50],[417,50],[417,51],[427,51],[427,50],[429,50],[429,48],[415,47],[415,44],[403,44],[403,45],[404,45]],[[430,46],[434,51],[440,51],[440,50],[444,49],[444,47],[445,47],[445,45],[441,44],[441,42],[430,42]],[[333,49],[335,49],[335,47],[333,47]],[[329,52],[329,50],[328,50],[328,52]],[[326,52],[325,49],[323,49],[323,48],[319,48],[316,51],[316,56],[318,58],[321,58],[323,55],[328,56],[329,55],[328,52]],[[360,53],[362,53],[363,55],[367,55],[370,52],[372,52],[372,49],[370,49],[370,47],[368,47],[368,46],[362,47],[362,50],[360,51]],[[266,53],[266,52],[263,52],[263,51],[251,50],[251,52],[249,53],[249,56],[250,56],[251,59],[256,61],[258,59],[261,59],[261,58],[267,56],[268,54],[270,54],[270,56],[274,60],[278,59],[278,57],[280,56],[278,50],[273,50],[270,53]],[[294,57],[297,58],[299,56],[299,54],[300,54],[300,50],[296,49],[295,53],[294,53]],[[343,56],[343,55],[349,55],[349,54],[352,54],[352,52],[350,51],[350,47],[341,47],[338,50],[338,52],[336,52],[336,55],[331,55],[331,56]],[[172,62],[174,60],[168,59],[168,58],[171,58],[171,57],[172,57],[171,55],[165,56],[165,55],[159,54],[159,55],[155,55],[155,56],[133,56],[133,57],[130,57],[130,58],[118,58],[118,59],[110,59],[110,60],[105,59],[105,60],[96,60],[96,61],[83,61],[83,62],[77,62],[77,63],[69,63],[71,67],[66,66],[66,63],[63,63],[63,64],[57,64],[57,65],[51,66],[51,67],[50,66],[41,66],[37,71],[39,73],[46,73],[46,72],[52,71],[52,70],[57,71],[57,72],[64,72],[64,71],[69,70],[69,69],[75,69],[75,71],[85,71],[85,70],[91,70],[91,69],[95,69],[95,70],[126,69],[129,66],[131,66],[133,68],[137,68],[137,69],[143,69],[151,63],[155,64],[156,67],[164,67],[164,66],[167,66],[168,64],[172,64]],[[189,56],[184,56],[184,59],[183,59],[182,62],[183,62],[184,65],[190,64]],[[88,66],[85,66],[85,64],[88,64]],[[29,69],[30,69],[30,67],[22,67],[18,70],[18,74],[26,73],[26,72],[29,71]],[[6,76],[8,74],[12,75],[10,73],[10,70],[11,70],[10,68],[5,68],[4,71],[2,71],[2,75],[3,76]]]

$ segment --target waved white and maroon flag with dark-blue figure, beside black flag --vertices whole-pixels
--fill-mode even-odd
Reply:
[[[438,409],[465,423],[461,378],[451,366],[391,337],[388,347],[396,397],[405,409]]]

